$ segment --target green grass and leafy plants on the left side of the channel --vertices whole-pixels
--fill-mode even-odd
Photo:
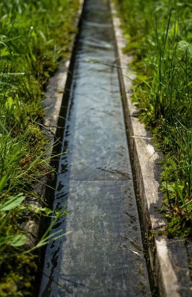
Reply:
[[[42,174],[54,173],[46,160],[47,139],[37,122],[44,115],[46,82],[69,54],[78,7],[79,0],[0,2],[1,297],[33,295],[38,267],[32,250],[24,252],[24,211],[56,219],[62,215],[23,201],[37,196],[33,189]],[[37,247],[48,240],[45,236]]]

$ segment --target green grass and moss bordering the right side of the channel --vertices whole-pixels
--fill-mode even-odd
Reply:
[[[192,234],[192,3],[116,0],[131,63],[132,99],[163,151],[167,234]],[[145,81],[145,82],[144,82]],[[147,84],[149,85],[147,85]],[[163,208],[162,207],[162,208]]]

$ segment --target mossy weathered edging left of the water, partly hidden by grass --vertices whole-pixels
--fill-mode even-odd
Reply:
[[[77,12],[77,16],[74,22],[74,27],[79,31],[80,23],[81,23],[81,17],[83,12],[83,6],[84,6],[84,0],[79,0],[80,5]],[[57,144],[55,146],[56,139],[61,139],[63,128],[57,128],[61,122],[60,120],[60,112],[62,109],[62,102],[64,101],[65,93],[68,93],[67,87],[70,86],[70,83],[73,73],[73,56],[75,52],[75,47],[77,44],[78,39],[78,32],[74,33],[74,36],[72,37],[72,42],[70,46],[70,55],[67,60],[61,61],[59,68],[56,70],[55,74],[49,78],[48,85],[46,87],[45,91],[45,100],[43,102],[43,108],[46,110],[45,112],[45,118],[43,120],[43,126],[48,127],[47,129],[44,129],[42,126],[40,127],[47,137],[48,144],[46,145],[46,148],[50,147],[50,150],[48,151],[45,158],[50,158],[53,152],[59,153],[57,146],[60,145]],[[51,127],[54,126],[54,127]],[[51,128],[50,128],[51,127]],[[48,131],[49,130],[49,131]],[[56,163],[56,164],[55,164]],[[56,162],[52,162],[51,159],[49,159],[48,164],[54,165],[57,167],[58,160]],[[34,193],[37,194],[37,198],[26,198],[25,203],[30,203],[33,205],[36,205],[37,207],[42,206],[43,201],[49,201],[52,203],[52,200],[50,196],[52,195],[52,191],[50,188],[50,191],[47,191],[47,185],[51,184],[49,181],[48,175],[42,175],[40,178],[40,182],[36,184],[34,188]],[[49,193],[50,192],[50,193]],[[40,199],[39,199],[40,198]],[[50,207],[51,205],[49,205]],[[23,229],[27,232],[28,241],[26,243],[26,248],[31,249],[33,248],[40,235],[42,235],[43,227],[43,220],[40,219],[39,216],[29,216],[27,221],[22,224]],[[42,228],[41,228],[42,226]]]

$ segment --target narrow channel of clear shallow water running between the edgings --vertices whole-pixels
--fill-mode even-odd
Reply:
[[[52,230],[39,297],[151,296],[107,0],[87,0],[76,53]],[[54,281],[53,281],[54,280]]]

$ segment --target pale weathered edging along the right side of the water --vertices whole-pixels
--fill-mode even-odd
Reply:
[[[124,108],[127,138],[130,156],[134,168],[135,183],[140,196],[141,221],[147,239],[150,265],[154,272],[154,283],[161,297],[192,296],[189,260],[191,254],[186,241],[169,240],[166,236],[157,236],[166,225],[155,209],[162,205],[160,192],[160,165],[163,154],[157,151],[152,136],[144,124],[138,120],[138,108],[131,101],[131,86],[135,76],[126,68],[132,60],[131,55],[123,53],[126,40],[120,27],[120,20],[113,0],[109,0],[116,43],[116,62]],[[130,79],[128,79],[129,77]]]

